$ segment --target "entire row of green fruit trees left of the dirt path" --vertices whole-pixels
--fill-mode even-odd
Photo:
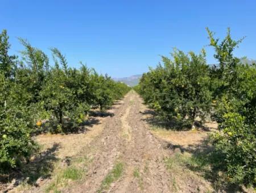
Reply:
[[[65,56],[51,48],[53,61],[26,39],[22,57],[10,56],[6,30],[0,33],[0,172],[30,158],[32,136],[40,132],[74,132],[90,108],[104,111],[130,88],[81,64],[68,67]]]

